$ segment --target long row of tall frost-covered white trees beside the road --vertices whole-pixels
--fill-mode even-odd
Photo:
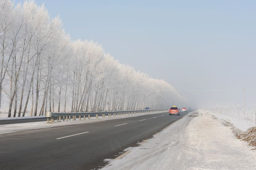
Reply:
[[[182,98],[114,60],[93,41],[71,41],[44,5],[0,1],[0,111],[8,117],[50,112],[166,108]]]

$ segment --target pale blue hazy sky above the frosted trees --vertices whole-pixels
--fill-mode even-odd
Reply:
[[[177,90],[256,89],[255,0],[35,2],[59,14],[72,39],[93,39]],[[242,90],[180,94],[201,107],[243,99]],[[246,90],[246,105],[256,106],[256,91]]]

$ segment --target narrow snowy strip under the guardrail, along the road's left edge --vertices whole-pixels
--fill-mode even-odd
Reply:
[[[120,119],[120,118],[125,118],[125,117],[135,117],[135,116],[142,116],[145,114],[155,114],[157,112],[153,112],[153,113],[142,113],[142,114],[133,114],[133,115],[126,115],[126,116],[118,116],[116,115],[116,117],[108,117],[108,115],[106,115],[105,118],[103,117],[98,117],[98,119],[96,119],[95,117],[91,117],[90,120],[88,120],[88,117],[86,118],[86,120],[82,120],[79,121],[78,116],[76,117],[75,121],[61,121],[61,122],[54,122],[54,123],[47,123],[47,121],[40,121],[40,122],[29,122],[29,123],[18,123],[18,124],[7,124],[7,125],[0,125],[0,135],[1,134],[5,134],[5,133],[14,133],[14,132],[20,132],[20,131],[27,131],[27,130],[34,130],[34,129],[42,129],[42,128],[52,128],[52,127],[56,127],[56,126],[66,126],[66,125],[74,125],[74,124],[83,124],[83,123],[91,123],[91,122],[96,122],[96,121],[105,121],[105,120],[109,120],[109,119]],[[158,113],[163,113],[163,112],[158,112]],[[42,116],[45,117],[45,116]]]

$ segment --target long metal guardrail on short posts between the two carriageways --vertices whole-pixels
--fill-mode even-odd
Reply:
[[[54,123],[54,117],[57,117],[57,122],[76,120],[76,116],[79,116],[79,120],[81,116],[83,116],[83,120],[90,120],[91,115],[95,115],[95,118],[98,119],[99,114],[105,118],[105,114],[108,114],[108,117],[116,117],[116,116],[127,116],[134,114],[142,114],[142,113],[152,113],[152,112],[163,112],[169,111],[169,109],[151,109],[151,110],[122,110],[122,111],[104,111],[104,112],[46,112],[45,117],[47,117],[47,123]]]

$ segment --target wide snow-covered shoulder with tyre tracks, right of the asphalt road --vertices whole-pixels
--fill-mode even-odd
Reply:
[[[102,170],[255,170],[256,152],[204,110],[174,122]],[[120,157],[119,157],[120,158]]]

